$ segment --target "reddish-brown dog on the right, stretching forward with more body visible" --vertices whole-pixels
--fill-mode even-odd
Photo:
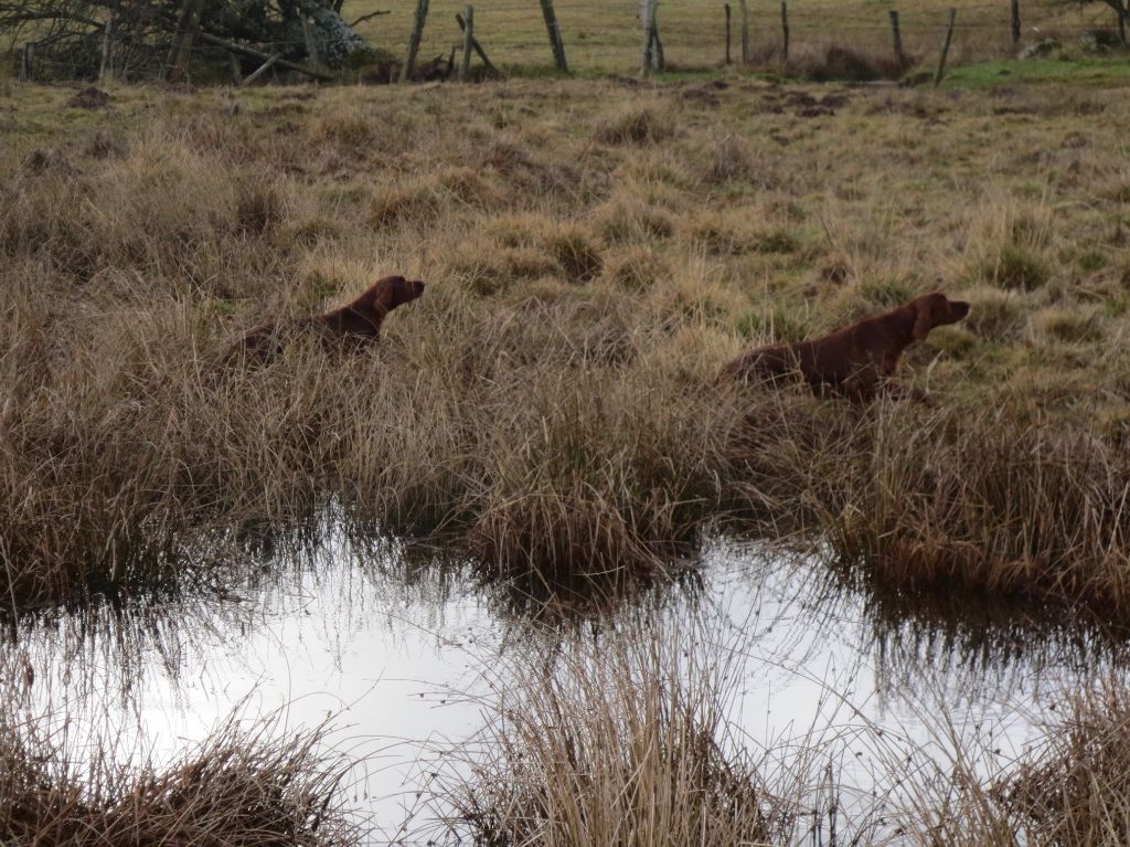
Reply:
[[[855,399],[869,399],[884,380],[894,375],[904,349],[921,342],[935,327],[956,323],[968,313],[968,303],[947,300],[945,294],[923,294],[823,338],[742,353],[722,368],[719,379],[777,382],[799,373],[814,391],[831,388]]]

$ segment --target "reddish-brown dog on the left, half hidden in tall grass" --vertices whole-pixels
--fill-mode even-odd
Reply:
[[[312,318],[277,321],[255,327],[232,345],[225,362],[236,358],[266,361],[278,353],[284,340],[299,331],[313,331],[328,346],[351,346],[376,340],[384,318],[398,305],[410,303],[424,293],[424,283],[402,276],[386,276],[370,286],[349,305]]]

